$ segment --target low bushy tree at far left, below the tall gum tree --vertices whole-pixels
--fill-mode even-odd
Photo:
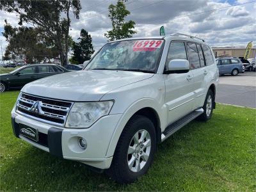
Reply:
[[[36,63],[36,61],[45,61],[47,58],[58,56],[52,41],[40,35],[37,28],[24,26],[13,28],[6,20],[5,23],[2,34],[8,42],[8,46],[4,53],[4,60],[15,61],[16,58],[19,58],[27,60],[29,63]]]

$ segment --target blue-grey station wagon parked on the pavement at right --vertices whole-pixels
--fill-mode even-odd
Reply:
[[[243,72],[243,63],[237,58],[221,58],[216,62],[220,75],[231,74],[237,76],[237,74]]]

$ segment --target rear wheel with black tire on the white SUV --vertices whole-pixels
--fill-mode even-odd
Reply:
[[[197,120],[200,120],[202,122],[206,122],[212,117],[212,111],[214,106],[214,95],[212,93],[212,90],[208,90],[207,95],[205,97],[204,101],[204,113],[202,115],[198,116]]]

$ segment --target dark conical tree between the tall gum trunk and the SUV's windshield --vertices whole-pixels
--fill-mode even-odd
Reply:
[[[80,37],[77,39],[79,42],[73,42],[72,51],[73,56],[71,58],[72,63],[83,63],[90,60],[94,49],[92,45],[92,36],[88,34],[85,29],[81,30]]]

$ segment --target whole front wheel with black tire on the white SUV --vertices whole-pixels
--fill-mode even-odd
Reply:
[[[111,166],[106,173],[120,184],[134,182],[144,175],[156,152],[156,130],[145,116],[135,115],[125,125]]]

